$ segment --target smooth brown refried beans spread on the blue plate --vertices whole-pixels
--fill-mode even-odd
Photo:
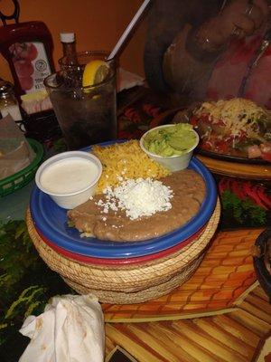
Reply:
[[[173,172],[160,181],[173,190],[172,208],[168,211],[131,220],[125,211],[109,209],[104,213],[97,204],[105,196],[95,195],[92,200],[68,211],[68,217],[80,233],[100,240],[140,242],[170,233],[198,214],[206,195],[205,183],[201,175],[191,169]]]

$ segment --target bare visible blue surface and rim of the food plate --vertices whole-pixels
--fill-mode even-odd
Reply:
[[[110,142],[112,143],[112,142]],[[107,145],[104,143],[102,145]],[[87,151],[89,148],[83,148]],[[67,210],[56,205],[49,195],[34,187],[31,195],[30,209],[37,229],[52,243],[85,256],[116,259],[133,258],[162,252],[197,233],[206,224],[217,202],[217,187],[210,171],[196,157],[192,157],[189,168],[198,172],[206,183],[206,197],[199,213],[181,228],[163,236],[144,242],[105,242],[96,238],[81,238],[77,229],[67,224]]]

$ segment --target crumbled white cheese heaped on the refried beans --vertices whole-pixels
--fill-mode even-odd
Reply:
[[[103,193],[106,200],[100,199],[97,203],[103,213],[107,214],[109,209],[120,209],[124,210],[131,220],[172,208],[170,199],[173,197],[173,190],[152,178],[123,180],[115,188],[108,186]]]

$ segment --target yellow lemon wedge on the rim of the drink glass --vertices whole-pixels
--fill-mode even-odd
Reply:
[[[83,87],[98,84],[107,78],[109,67],[106,62],[95,60],[88,62],[83,72]]]

